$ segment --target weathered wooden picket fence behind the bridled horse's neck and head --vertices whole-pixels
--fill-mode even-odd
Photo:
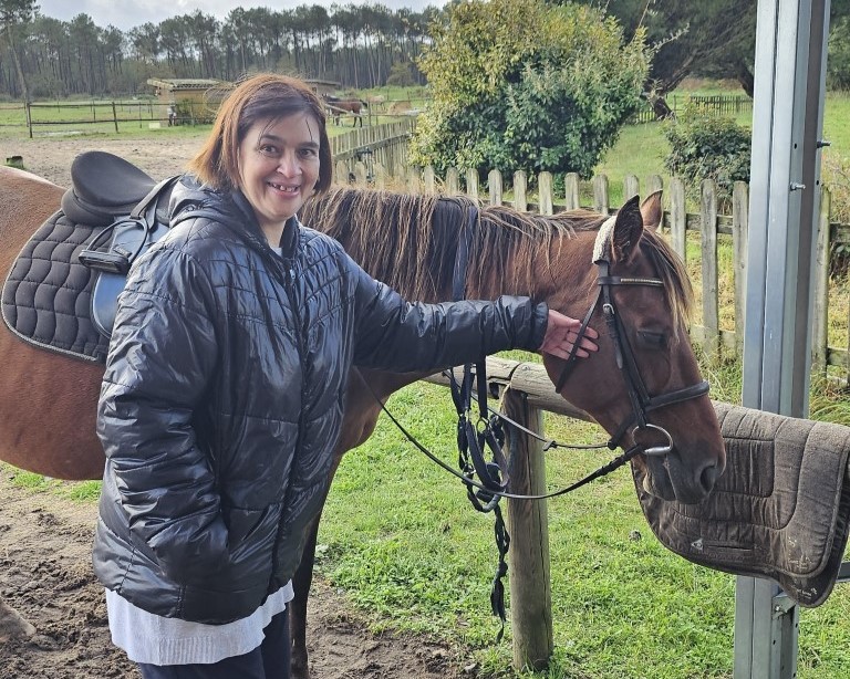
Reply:
[[[354,164],[350,175],[350,182],[360,186],[376,186],[383,188],[393,184],[396,188],[403,187],[412,192],[426,194],[460,194],[459,170],[449,168],[444,179],[439,179],[432,167],[424,170],[417,168],[396,168],[392,179],[382,167],[374,167],[373,180],[367,180],[362,164]],[[338,174],[338,177],[340,175]],[[611,206],[609,197],[609,179],[604,175],[598,175],[591,180],[592,202],[584,205],[580,199],[580,178],[576,174],[569,174],[564,179],[563,195],[556,196],[552,189],[553,177],[549,173],[540,173],[537,177],[536,195],[529,195],[528,177],[525,173],[516,173],[512,177],[510,191],[512,199],[505,198],[506,189],[501,174],[491,170],[487,180],[486,191],[479,186],[478,174],[475,170],[464,173],[465,192],[476,200],[489,205],[510,205],[518,210],[531,210],[541,215],[553,215],[556,211],[577,208],[590,208],[598,212],[611,213],[615,208]],[[660,176],[647,179],[643,191],[636,177],[628,176],[624,179],[623,197],[647,196],[653,191],[664,189],[667,209],[664,212],[662,229],[668,234],[675,251],[687,261],[686,242],[688,233],[699,234],[699,274],[694,281],[701,300],[701,314],[698,323],[691,327],[692,337],[697,342],[703,353],[711,361],[722,356],[725,352],[743,351],[747,274],[747,218],[749,206],[749,191],[745,182],[736,182],[730,200],[730,213],[721,213],[722,201],[715,182],[704,180],[699,191],[699,211],[687,211],[686,187],[680,179],[671,180],[664,187]],[[729,201],[726,201],[729,202]],[[821,209],[817,224],[817,262],[818,274],[815,283],[815,317],[812,365],[816,369],[825,372],[827,366],[838,366],[844,377],[850,378],[850,353],[847,345],[843,347],[829,346],[829,294],[830,294],[830,249],[832,243],[850,241],[850,224],[832,222],[831,196],[827,188],[821,189]],[[619,207],[619,206],[616,206]],[[732,240],[732,265],[722,270],[718,263],[718,238]],[[732,280],[734,293],[734,316],[725,321],[726,327],[721,325],[721,280]],[[729,302],[725,302],[728,304]],[[729,324],[733,327],[728,327]],[[850,322],[848,322],[850,327]],[[848,341],[850,344],[850,340]]]

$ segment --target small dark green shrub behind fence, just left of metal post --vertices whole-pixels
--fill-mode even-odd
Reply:
[[[719,195],[732,196],[735,181],[749,181],[750,132],[729,118],[688,107],[665,124],[670,153],[664,167],[686,185],[714,179]]]

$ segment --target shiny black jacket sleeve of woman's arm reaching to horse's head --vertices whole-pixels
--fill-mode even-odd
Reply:
[[[356,293],[354,362],[397,372],[432,370],[509,348],[542,344],[548,306],[528,297],[495,302],[407,303],[353,261]]]

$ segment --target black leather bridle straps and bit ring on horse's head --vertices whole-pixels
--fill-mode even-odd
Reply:
[[[673,404],[678,404],[685,400],[691,400],[692,398],[704,396],[708,393],[709,385],[706,380],[703,380],[695,385],[691,385],[690,387],[683,387],[682,389],[675,389],[659,396],[650,396],[650,391],[646,388],[646,383],[643,380],[641,372],[638,368],[638,362],[634,358],[634,351],[632,349],[632,345],[629,342],[629,335],[625,332],[623,322],[621,321],[620,314],[618,313],[616,304],[614,303],[614,297],[612,295],[612,288],[616,285],[649,285],[652,288],[664,288],[664,281],[661,279],[610,275],[609,270],[611,263],[607,257],[600,257],[595,259],[593,263],[598,267],[597,284],[599,285],[599,294],[597,294],[597,297],[588,310],[588,313],[584,314],[584,318],[581,322],[581,327],[579,328],[578,336],[573,343],[570,356],[567,358],[567,363],[564,364],[563,369],[561,370],[561,375],[558,378],[556,391],[558,391],[558,394],[561,393],[567,383],[567,378],[576,367],[576,364],[578,363],[578,347],[581,344],[582,337],[584,337],[587,333],[588,324],[590,323],[593,313],[601,302],[602,315],[608,327],[608,335],[611,337],[611,341],[614,344],[616,367],[620,368],[620,372],[623,375],[625,389],[629,394],[629,400],[632,404],[631,418],[624,420],[616,428],[614,433],[611,436],[611,439],[608,441],[608,447],[611,450],[614,450],[618,446],[620,446],[620,441],[622,440],[623,436],[625,436],[625,432],[629,431],[629,428],[632,427],[632,425],[634,425],[631,430],[632,438],[634,438],[634,435],[638,431],[645,431],[649,429],[652,429],[653,431],[656,431],[664,437],[662,445],[645,448],[643,450],[643,455],[655,457],[665,456],[673,450],[673,437],[663,427],[649,422],[646,417],[647,414],[665,406],[671,406]]]

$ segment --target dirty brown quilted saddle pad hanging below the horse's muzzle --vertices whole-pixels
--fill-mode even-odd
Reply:
[[[850,428],[715,403],[726,472],[698,504],[653,498],[632,468],[659,540],[697,564],[770,577],[802,606],[836,583],[848,537]]]

